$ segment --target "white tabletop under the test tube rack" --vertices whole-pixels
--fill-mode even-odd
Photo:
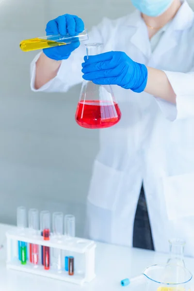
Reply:
[[[120,281],[139,275],[149,265],[166,263],[168,255],[153,251],[97,243],[96,275],[82,287],[38,275],[6,269],[5,232],[13,226],[0,224],[0,290],[2,291],[122,291]],[[194,259],[185,258],[186,267],[194,274]],[[192,284],[193,285],[193,284]]]

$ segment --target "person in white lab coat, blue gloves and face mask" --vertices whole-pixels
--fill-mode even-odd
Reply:
[[[87,60],[79,43],[44,49],[32,62],[31,86],[66,92],[82,77],[115,85],[122,118],[100,130],[88,236],[157,251],[177,237],[194,256],[194,12],[186,0],[131,1],[133,14],[104,18],[89,33],[90,43],[104,44],[102,54]],[[83,28],[79,17],[63,15],[46,32]]]

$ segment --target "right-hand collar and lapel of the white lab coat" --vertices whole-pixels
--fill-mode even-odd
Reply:
[[[154,63],[157,63],[163,54],[178,45],[178,31],[190,28],[193,24],[193,19],[194,12],[187,1],[184,1],[152,54]]]

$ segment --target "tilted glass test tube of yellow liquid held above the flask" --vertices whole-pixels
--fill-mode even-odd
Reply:
[[[31,51],[36,49],[47,49],[57,46],[68,45],[75,41],[84,40],[88,40],[87,29],[74,36],[69,34],[66,35],[57,34],[25,39],[20,42],[19,47],[23,51]]]

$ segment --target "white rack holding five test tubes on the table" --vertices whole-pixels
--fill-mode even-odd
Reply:
[[[29,228],[22,231],[17,227],[10,229],[6,233],[7,237],[7,268],[22,271],[34,275],[42,275],[45,277],[58,279],[70,283],[82,285],[85,282],[90,282],[95,278],[95,249],[96,243],[90,240],[81,238],[65,236],[61,240],[57,240],[52,234],[49,241],[44,241],[43,237],[39,234],[34,236],[31,234]],[[38,244],[41,246],[49,246],[50,248],[57,248],[68,252],[80,253],[84,256],[85,263],[83,272],[81,274],[68,275],[68,272],[58,272],[50,267],[49,270],[44,270],[41,264],[33,265],[29,261],[25,265],[21,265],[18,260],[18,241]],[[75,262],[76,263],[76,262]]]

